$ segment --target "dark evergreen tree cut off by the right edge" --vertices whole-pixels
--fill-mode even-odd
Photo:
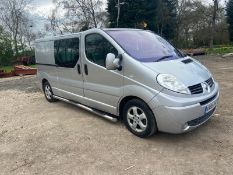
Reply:
[[[227,3],[227,22],[229,24],[230,41],[233,42],[233,0]]]

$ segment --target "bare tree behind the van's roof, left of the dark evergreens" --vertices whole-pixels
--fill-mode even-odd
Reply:
[[[56,9],[49,16],[47,30],[56,33],[78,32],[106,23],[106,13],[102,11],[101,0],[54,0]],[[65,11],[59,16],[60,9]]]

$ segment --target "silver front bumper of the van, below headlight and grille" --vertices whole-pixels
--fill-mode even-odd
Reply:
[[[150,102],[158,130],[179,134],[191,131],[207,122],[216,110],[218,89],[218,84],[215,83],[211,93],[190,98],[173,98],[161,92]],[[207,107],[211,104],[214,106],[207,111]]]

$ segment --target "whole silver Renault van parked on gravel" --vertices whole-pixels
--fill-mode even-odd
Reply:
[[[91,29],[35,45],[49,102],[121,119],[139,137],[187,132],[215,112],[219,86],[212,74],[151,31]]]

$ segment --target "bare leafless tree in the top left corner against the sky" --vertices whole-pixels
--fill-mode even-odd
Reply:
[[[0,0],[0,21],[11,33],[15,54],[18,54],[20,26],[25,19],[25,9],[29,0]]]

